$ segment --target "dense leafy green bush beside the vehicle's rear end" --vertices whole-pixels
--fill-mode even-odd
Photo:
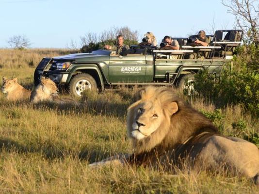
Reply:
[[[213,101],[218,107],[243,104],[245,110],[259,116],[259,50],[254,45],[237,49],[233,64],[223,66],[220,80],[207,70],[195,75],[196,92]]]

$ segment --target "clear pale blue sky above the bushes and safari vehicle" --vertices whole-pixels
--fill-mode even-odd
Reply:
[[[79,47],[87,32],[124,26],[140,40],[153,32],[160,43],[165,35],[210,34],[213,23],[232,29],[234,16],[221,0],[0,0],[0,48],[14,35],[25,35],[32,48],[66,48],[71,40]]]

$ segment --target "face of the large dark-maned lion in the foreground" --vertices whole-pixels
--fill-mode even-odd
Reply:
[[[175,101],[166,101],[154,95],[154,87],[147,87],[141,92],[140,99],[128,109],[127,128],[129,138],[147,139],[166,131],[159,131],[161,126],[170,125],[170,117],[178,111]],[[163,98],[163,96],[161,96]]]

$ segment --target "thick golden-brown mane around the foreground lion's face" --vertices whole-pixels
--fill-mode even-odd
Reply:
[[[175,149],[190,137],[202,132],[208,132],[211,135],[218,133],[218,129],[212,125],[209,119],[184,103],[183,100],[174,94],[172,89],[149,86],[137,94],[137,102],[128,109],[128,134],[131,130],[135,106],[141,102],[148,100],[156,101],[158,99],[161,100],[162,107],[166,107],[170,102],[176,102],[178,104],[178,112],[172,116],[168,116],[164,112],[164,122],[149,137],[142,140],[131,138],[135,154],[148,153],[154,148],[158,152],[164,152]]]

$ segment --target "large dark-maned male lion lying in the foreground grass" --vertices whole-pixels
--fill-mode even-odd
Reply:
[[[91,165],[129,163],[218,171],[253,178],[259,185],[259,149],[236,137],[219,134],[209,119],[175,96],[172,89],[149,86],[137,95],[127,115],[134,152]]]

